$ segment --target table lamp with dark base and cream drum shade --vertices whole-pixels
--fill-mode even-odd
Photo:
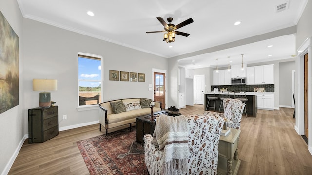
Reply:
[[[58,90],[58,80],[55,79],[33,79],[33,90],[40,92],[39,107],[49,108],[51,106],[51,93],[46,91]]]

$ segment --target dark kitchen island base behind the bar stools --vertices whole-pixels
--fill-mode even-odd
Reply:
[[[215,92],[215,96],[219,97],[219,94],[222,94],[223,92]],[[230,97],[234,99],[234,92],[230,92]],[[247,112],[247,116],[250,117],[256,117],[257,116],[257,96],[256,95],[246,95],[248,101],[246,102],[246,112]],[[205,110],[207,108],[207,103],[208,103],[208,99],[207,99],[207,94],[205,94]],[[215,110],[216,112],[219,111],[219,107],[221,105],[222,101],[220,100],[220,98],[216,99],[215,101]],[[209,104],[208,104],[209,108],[207,110],[210,111],[214,111],[214,108],[210,108],[210,107],[214,107],[214,101],[210,100]],[[223,107],[223,105],[222,105]],[[221,107],[220,112],[223,112],[223,109]],[[243,116],[245,115],[245,111],[243,113]]]

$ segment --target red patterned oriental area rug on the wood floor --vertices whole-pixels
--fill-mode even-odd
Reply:
[[[100,135],[77,142],[90,175],[147,175],[144,147],[136,129]]]

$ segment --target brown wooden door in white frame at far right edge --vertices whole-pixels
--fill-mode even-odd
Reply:
[[[304,135],[308,138],[308,53],[304,55]]]

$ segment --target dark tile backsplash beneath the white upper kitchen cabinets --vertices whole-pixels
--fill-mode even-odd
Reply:
[[[274,84],[269,84],[269,85],[220,85],[220,86],[211,86],[211,90],[214,88],[228,88],[229,92],[234,92],[234,91],[244,91],[244,92],[254,92],[254,88],[264,88],[266,92],[274,92]]]

